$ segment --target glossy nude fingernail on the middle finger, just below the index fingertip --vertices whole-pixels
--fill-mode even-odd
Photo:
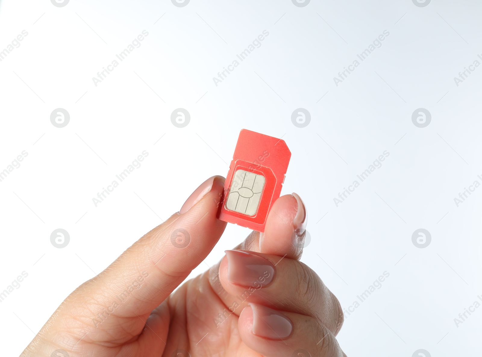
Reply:
[[[226,251],[229,282],[245,287],[261,288],[274,277],[274,266],[267,259],[245,251]]]

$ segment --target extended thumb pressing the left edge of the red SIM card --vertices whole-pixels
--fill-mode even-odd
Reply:
[[[71,310],[64,311],[67,314],[78,314],[80,303],[91,332],[98,323],[102,331],[124,324],[126,318],[135,318],[137,323],[131,324],[131,331],[122,331],[140,333],[151,311],[204,260],[221,237],[226,223],[216,218],[216,212],[223,185],[221,176],[207,179],[180,212],[152,229],[97,277],[80,286],[61,305],[61,310],[67,308]],[[69,305],[72,300],[77,304]],[[92,323],[88,316],[92,316]],[[87,331],[87,335],[91,333]],[[96,337],[102,339],[99,334]]]

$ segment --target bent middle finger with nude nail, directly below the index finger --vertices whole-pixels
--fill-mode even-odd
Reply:
[[[318,318],[333,334],[343,313],[335,295],[306,264],[253,251],[226,251],[219,278],[231,312],[248,303]],[[237,307],[240,307],[239,309]]]

